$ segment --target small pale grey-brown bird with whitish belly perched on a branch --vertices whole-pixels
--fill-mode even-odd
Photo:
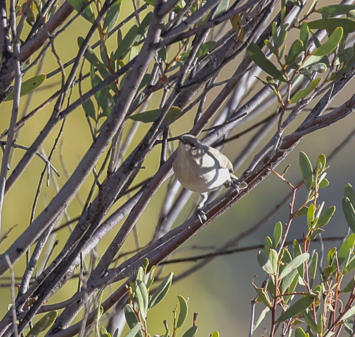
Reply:
[[[189,134],[179,137],[179,146],[173,162],[173,171],[182,186],[192,192],[200,193],[202,201],[196,207],[196,215],[201,223],[207,220],[203,206],[208,192],[224,185],[238,190],[248,186],[239,182],[233,174],[233,165],[220,151],[204,145]]]

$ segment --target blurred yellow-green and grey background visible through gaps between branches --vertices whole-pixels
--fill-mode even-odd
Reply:
[[[119,20],[126,17],[132,12],[132,4],[129,1],[124,1],[124,5],[121,7],[121,13]],[[55,47],[58,51],[62,62],[66,62],[74,57],[78,50],[78,45],[76,38],[78,35],[85,36],[89,23],[83,18],[75,21],[65,33],[61,34],[55,41]],[[26,28],[28,30],[28,26]],[[125,28],[126,29],[126,28]],[[92,42],[96,41],[98,36],[95,36]],[[115,41],[112,39],[112,48],[115,48]],[[242,57],[242,56],[241,56]],[[237,64],[239,60],[236,60]],[[42,70],[39,73],[48,73],[57,67],[55,57],[51,53],[47,53],[43,63]],[[86,69],[88,70],[88,68]],[[69,70],[66,70],[69,73]],[[221,77],[229,76],[230,72],[234,69],[225,68],[221,73]],[[34,76],[38,70],[34,67],[29,73],[26,74],[26,78]],[[83,91],[86,92],[90,85],[89,81],[86,80],[83,83]],[[28,102],[29,96],[24,96],[21,100],[20,113],[24,112],[25,109],[31,111],[34,107],[38,106],[42,101],[52,94],[59,86],[60,74],[48,79],[45,84],[37,89],[33,98]],[[216,89],[214,93],[217,93]],[[161,93],[159,93],[161,95]],[[353,94],[353,89],[351,86],[347,87],[342,95],[338,98],[338,103],[341,104],[346,98],[350,98]],[[72,100],[78,97],[78,90],[73,90]],[[209,96],[208,101],[211,102],[212,96]],[[156,108],[160,102],[160,96],[157,94],[153,96],[153,99],[149,103],[149,108]],[[206,104],[208,106],[208,104]],[[11,102],[2,104],[2,111],[0,115],[0,124],[5,129],[9,125],[9,119],[11,114]],[[40,130],[43,128],[49,116],[53,110],[54,103],[51,103],[45,109],[38,112],[38,114],[31,118],[26,125],[20,130],[17,143],[25,146],[32,144],[35,137],[37,137]],[[337,101],[332,103],[332,106],[337,106]],[[265,116],[269,115],[272,111],[264,111],[259,117],[260,120]],[[302,112],[306,114],[306,112]],[[192,127],[193,118],[195,116],[188,114],[181,118],[171,128],[171,133],[174,136],[188,132]],[[253,121],[255,122],[255,121]],[[301,179],[301,174],[298,169],[298,155],[299,151],[304,151],[310,158],[312,164],[315,163],[317,156],[324,153],[326,156],[331,153],[331,151],[337,147],[337,145],[354,129],[355,126],[355,116],[350,115],[345,120],[317,131],[315,134],[307,136],[302,140],[302,142],[297,145],[296,149],[289,155],[286,160],[277,168],[278,172],[282,172],[287,164],[291,167],[286,175],[287,179],[291,183],[297,183]],[[125,132],[127,132],[126,124]],[[250,124],[251,125],[251,124]],[[240,125],[233,133],[239,133],[250,125]],[[137,136],[143,134],[149,125],[140,125]],[[59,126],[57,126],[53,132],[51,132],[48,139],[43,144],[43,150],[48,155],[54,139],[59,131]],[[275,129],[273,129],[273,132]],[[271,136],[270,133],[269,136]],[[233,160],[239,154],[240,149],[247,144],[252,134],[246,134],[240,139],[228,144],[224,149],[224,153]],[[134,144],[138,143],[139,139],[135,139]],[[75,112],[70,114],[67,118],[64,133],[61,137],[59,148],[56,150],[54,158],[52,160],[53,165],[60,172],[61,177],[57,178],[58,186],[61,187],[65,181],[65,168],[71,173],[75,170],[78,162],[81,160],[83,154],[91,146],[91,135],[87,126],[86,118],[84,116],[84,111],[82,108],[77,109]],[[174,143],[177,146],[177,143]],[[261,147],[255,150],[256,154]],[[341,199],[343,197],[343,189],[346,183],[355,185],[354,178],[354,152],[355,152],[355,142],[352,140],[344,150],[338,153],[335,158],[328,162],[330,168],[327,173],[327,178],[330,181],[329,187],[322,190],[320,199],[325,200],[326,207],[335,205],[337,211],[333,216],[331,223],[327,226],[327,232],[324,237],[327,236],[341,236],[347,231],[347,225],[341,211]],[[62,158],[61,159],[61,155]],[[128,155],[129,152],[126,153]],[[23,155],[23,150],[16,149],[13,151],[13,161],[11,168],[15,167],[17,162]],[[145,178],[153,175],[159,166],[159,156],[160,147],[152,151],[148,156],[144,166],[146,170],[142,170],[136,182],[140,182]],[[236,174],[242,173],[250,161],[252,156],[246,160],[246,162],[239,168],[236,169]],[[64,168],[65,165],[65,168]],[[9,233],[9,236],[4,242],[1,243],[1,252],[4,252],[12,242],[17,238],[19,233],[22,233],[24,228],[29,225],[29,219],[31,214],[31,208],[34,200],[35,191],[38,186],[39,176],[44,168],[44,163],[39,158],[34,158],[31,164],[27,167],[24,174],[16,182],[16,184],[11,188],[9,193],[5,197],[4,211],[2,215],[2,234],[9,230],[12,226],[17,225],[15,229]],[[91,183],[93,177],[82,186],[80,190],[80,197],[85,200],[89,189],[91,188]],[[134,185],[135,183],[133,183]],[[147,209],[144,211],[143,216],[138,221],[137,233],[140,239],[140,244],[144,245],[151,239],[154,227],[157,223],[159,217],[160,206],[162,205],[163,198],[165,197],[166,183],[162,186],[159,192],[154,195],[153,199],[149,203]],[[184,252],[176,256],[187,256],[201,254],[207,252],[205,249],[192,249],[186,251],[187,248],[192,246],[203,246],[203,247],[218,247],[223,245],[226,241],[229,241],[234,236],[239,233],[246,231],[248,228],[252,227],[260,221],[271,209],[274,209],[280,201],[284,198],[286,194],[290,192],[289,187],[283,183],[280,179],[274,175],[270,175],[265,181],[253,189],[248,195],[246,195],[242,200],[240,200],[233,208],[229,209],[225,214],[220,216],[211,225],[209,225],[202,232],[199,232],[190,241],[184,244],[179,250]],[[303,193],[303,194],[302,194]],[[302,190],[296,200],[296,205],[301,204],[305,198],[305,189]],[[49,187],[43,187],[39,198],[39,203],[37,205],[36,214],[39,214],[49,201],[56,194],[56,189],[51,181]],[[302,195],[301,195],[302,194]],[[197,202],[197,194],[193,194],[189,205],[193,209]],[[126,199],[125,199],[126,200]],[[121,201],[114,206],[116,209],[121,204]],[[80,199],[74,198],[67,211],[71,218],[75,218],[79,215],[81,209]],[[272,217],[271,220],[264,223],[264,225],[253,232],[250,236],[242,240],[240,247],[247,247],[250,245],[263,244],[266,236],[272,236],[274,225],[277,221],[286,222],[288,219],[288,203],[280,207],[278,212]],[[184,220],[185,216],[181,216],[175,225],[180,225]],[[61,223],[66,220],[63,218]],[[104,252],[105,248],[111,242],[111,237],[117,232],[119,225],[117,225],[112,230],[112,235],[107,235],[99,244],[97,248],[98,254]],[[290,237],[302,237],[302,231],[306,230],[306,223],[303,218],[296,219],[292,225]],[[59,239],[60,243],[55,248],[53,258],[56,254],[60,252],[61,247],[63,247],[67,237],[69,236],[69,229],[64,228],[55,234],[54,239]],[[337,246],[339,242],[325,243],[325,251],[329,247]],[[124,245],[123,251],[135,248],[135,240],[131,236],[126,244]],[[256,293],[252,287],[252,278],[258,275],[257,284],[261,284],[264,280],[266,274],[261,270],[256,259],[257,250],[250,250],[243,253],[237,253],[232,255],[223,255],[216,257],[207,266],[202,269],[197,270],[192,273],[189,277],[181,280],[173,285],[168,293],[167,297],[164,299],[161,305],[152,309],[149,312],[148,326],[152,329],[154,333],[162,334],[164,332],[163,319],[167,319],[168,322],[172,322],[172,310],[174,309],[177,298],[176,295],[181,294],[185,298],[189,297],[189,318],[188,324],[192,323],[192,313],[199,313],[197,324],[199,326],[198,336],[209,336],[213,331],[218,330],[221,336],[247,336],[250,322],[250,308],[251,300],[255,297]],[[41,261],[43,263],[43,261]],[[176,275],[185,271],[194,265],[194,262],[180,263],[180,264],[169,264],[165,267],[164,273],[167,274],[168,271],[173,271]],[[24,268],[24,257],[18,261],[15,265],[15,275],[21,276]],[[164,275],[165,275],[164,274]],[[1,283],[7,283],[6,274],[2,278]],[[115,286],[115,285],[114,285]],[[114,288],[113,286],[113,288]],[[73,293],[76,292],[77,281],[71,280],[66,286],[55,294],[49,303],[60,302],[67,299]],[[108,296],[109,289],[105,291],[104,297]],[[3,316],[6,312],[7,304],[10,303],[10,291],[7,287],[0,288],[0,298],[2,305],[0,306],[0,315]],[[261,308],[261,307],[260,307]],[[257,314],[260,313],[260,309],[257,306]],[[268,328],[268,320],[264,321],[260,329],[255,333],[255,336],[260,336],[264,333],[263,327]]]

